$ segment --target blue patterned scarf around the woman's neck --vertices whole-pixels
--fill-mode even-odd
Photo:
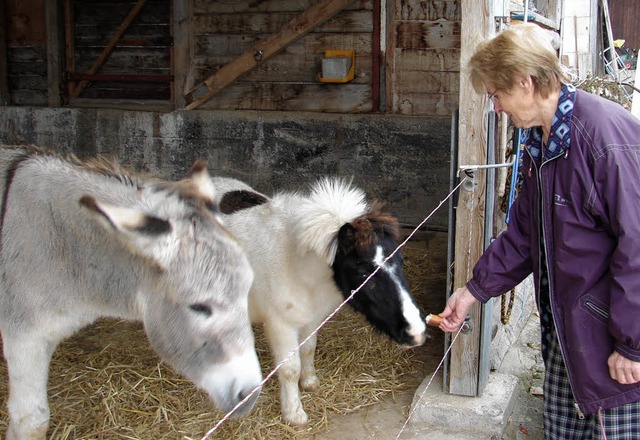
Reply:
[[[558,108],[553,117],[551,132],[544,152],[544,162],[563,154],[571,143],[569,132],[571,128],[571,114],[576,100],[576,88],[571,84],[563,84],[560,89]],[[533,160],[539,165],[542,155],[542,128],[533,127],[523,131],[522,138],[525,147],[531,153]]]

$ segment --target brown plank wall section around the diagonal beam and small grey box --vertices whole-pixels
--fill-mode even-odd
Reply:
[[[317,0],[194,0],[194,84],[283,28]],[[201,108],[366,113],[372,110],[373,3],[355,1],[260,63]],[[318,80],[325,50],[354,50],[355,78]]]

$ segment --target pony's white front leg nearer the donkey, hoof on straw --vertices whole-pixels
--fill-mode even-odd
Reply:
[[[264,328],[275,363],[279,365],[298,346],[298,331],[284,322],[276,322],[276,319],[266,322]],[[300,356],[296,352],[278,370],[280,409],[285,422],[294,426],[305,426],[309,417],[302,408],[299,380]]]

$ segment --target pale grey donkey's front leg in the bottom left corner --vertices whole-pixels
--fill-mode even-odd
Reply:
[[[47,378],[56,344],[3,334],[9,372],[7,440],[44,440],[49,427]]]

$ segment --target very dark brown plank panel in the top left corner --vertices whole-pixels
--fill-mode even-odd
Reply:
[[[44,0],[0,1],[6,29],[7,83],[12,105],[47,105]]]

